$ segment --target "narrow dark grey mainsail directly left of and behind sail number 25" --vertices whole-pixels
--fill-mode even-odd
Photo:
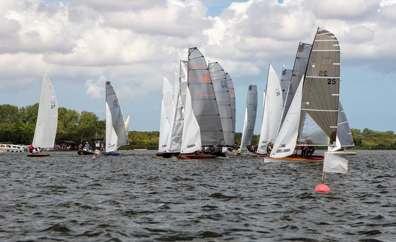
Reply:
[[[298,84],[300,83],[301,77],[302,75],[305,74],[306,66],[308,65],[308,60],[309,60],[309,54],[311,53],[311,48],[312,45],[310,44],[305,44],[301,42],[298,44],[296,59],[293,67],[292,80],[288,87],[288,91],[287,91],[288,94],[283,108],[281,126],[283,124],[283,121],[285,120],[286,114],[288,113],[293,97],[296,94],[297,87]]]

